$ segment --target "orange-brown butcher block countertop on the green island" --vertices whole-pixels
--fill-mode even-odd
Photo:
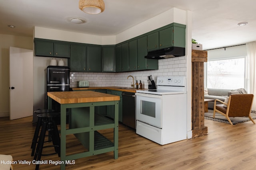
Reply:
[[[106,102],[120,100],[119,96],[93,91],[48,92],[47,95],[60,104]]]

